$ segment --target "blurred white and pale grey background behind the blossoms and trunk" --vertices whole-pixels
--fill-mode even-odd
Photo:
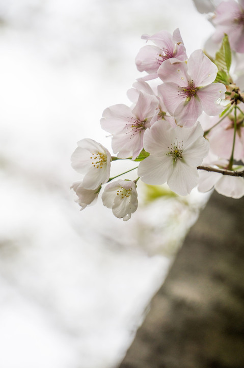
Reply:
[[[123,222],[69,189],[77,141],[110,149],[99,120],[130,104],[141,35],[178,27],[188,55],[213,30],[192,0],[0,0],[1,367],[115,367],[196,221],[197,191],[139,182]]]

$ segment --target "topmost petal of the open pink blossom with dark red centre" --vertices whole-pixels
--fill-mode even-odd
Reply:
[[[196,87],[212,83],[217,75],[218,67],[202,52],[196,50],[187,62],[188,75],[194,81]]]

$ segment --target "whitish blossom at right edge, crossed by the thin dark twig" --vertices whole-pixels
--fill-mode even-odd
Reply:
[[[228,160],[214,160],[211,167],[223,168],[228,166]],[[233,170],[243,170],[244,167],[233,166]],[[241,198],[244,195],[244,178],[239,176],[223,175],[216,172],[199,170],[199,192],[208,192],[215,189],[216,192],[226,197]]]

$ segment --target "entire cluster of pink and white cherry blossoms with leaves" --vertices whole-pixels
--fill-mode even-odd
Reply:
[[[216,9],[214,38],[230,28],[230,43],[224,35],[215,59],[202,50],[188,57],[179,29],[173,35],[160,31],[142,36],[153,44],[139,51],[135,64],[147,74],[128,90],[131,106],[110,106],[100,121],[112,136],[114,156],[91,139],[79,141],[72,154],[72,167],[83,174],[71,187],[82,210],[106,184],[103,204],[128,220],[138,207],[139,179],[150,185],[167,182],[183,196],[197,186],[202,192],[214,187],[233,198],[244,195],[244,100],[229,74],[230,44],[244,52],[243,6],[243,1],[230,0]],[[149,81],[156,78],[153,88]],[[132,169],[137,170],[134,180],[110,177],[111,162],[118,159],[139,163]]]

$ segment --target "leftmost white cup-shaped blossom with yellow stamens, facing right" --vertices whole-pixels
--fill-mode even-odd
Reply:
[[[111,154],[100,143],[83,139],[71,156],[72,167],[84,174],[83,187],[96,190],[110,178]]]

